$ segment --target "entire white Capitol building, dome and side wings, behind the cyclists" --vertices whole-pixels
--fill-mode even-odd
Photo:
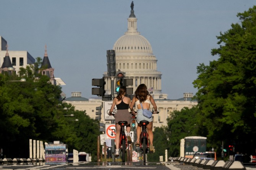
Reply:
[[[128,18],[128,29],[115,42],[113,50],[115,50],[117,71],[125,72],[126,79],[133,79],[133,85],[129,86],[133,87],[133,93],[138,85],[144,83],[155,99],[159,114],[153,114],[153,128],[167,126],[166,119],[173,111],[180,111],[184,107],[191,108],[198,104],[197,101],[191,100],[193,93],[183,93],[180,99],[168,99],[168,95],[162,93],[162,73],[157,71],[157,58],[152,52],[150,43],[137,30],[137,18],[133,6]],[[107,72],[104,72],[103,76],[106,77],[105,95],[110,95],[111,78],[108,78]],[[72,104],[76,110],[85,110],[93,119],[97,116],[96,107],[102,106],[100,121],[110,123],[109,120],[104,120],[106,110],[101,98],[87,99],[83,98],[80,92],[72,92],[71,97],[66,98],[64,102]]]

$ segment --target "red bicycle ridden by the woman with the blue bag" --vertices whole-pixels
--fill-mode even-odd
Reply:
[[[154,111],[152,111],[153,114]],[[136,113],[136,112],[135,112]],[[156,114],[159,114],[159,112],[154,112]],[[140,135],[140,143],[139,143],[139,148],[141,148],[141,150],[143,151],[143,162],[146,162],[146,154],[149,151],[149,135],[147,133],[147,124],[149,124],[149,121],[147,120],[141,120],[139,122],[139,124],[141,125],[141,135]],[[150,153],[152,153],[153,151],[149,151]]]

